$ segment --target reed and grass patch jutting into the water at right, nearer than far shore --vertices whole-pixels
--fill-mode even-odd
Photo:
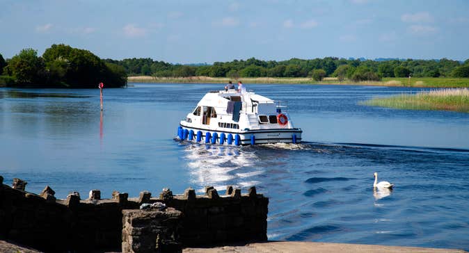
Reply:
[[[360,104],[404,110],[458,111],[469,113],[469,89],[443,89],[418,92],[415,95],[397,95],[374,98]]]

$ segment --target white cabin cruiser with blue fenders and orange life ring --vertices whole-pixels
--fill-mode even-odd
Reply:
[[[180,122],[177,138],[219,145],[299,143],[302,132],[280,101],[251,91],[217,90]]]

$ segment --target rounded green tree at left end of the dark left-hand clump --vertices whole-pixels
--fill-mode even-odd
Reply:
[[[42,83],[41,77],[45,70],[44,60],[38,57],[38,52],[34,49],[23,49],[11,58],[8,70],[17,83]]]

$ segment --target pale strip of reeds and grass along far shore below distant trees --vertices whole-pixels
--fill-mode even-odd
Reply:
[[[129,76],[129,83],[228,83],[228,81],[242,81],[243,83],[266,83],[266,84],[312,84],[312,85],[374,85],[393,87],[421,87],[421,88],[469,88],[469,79],[442,78],[442,77],[415,77],[411,78],[384,78],[382,81],[360,81],[353,82],[345,80],[339,82],[335,77],[325,78],[323,81],[314,81],[307,77],[246,77],[230,79],[228,77],[154,77],[154,76]],[[409,85],[410,83],[410,85]]]

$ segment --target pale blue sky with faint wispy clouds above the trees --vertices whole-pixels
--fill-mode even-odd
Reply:
[[[51,44],[168,63],[469,58],[467,0],[0,0],[0,54]]]

